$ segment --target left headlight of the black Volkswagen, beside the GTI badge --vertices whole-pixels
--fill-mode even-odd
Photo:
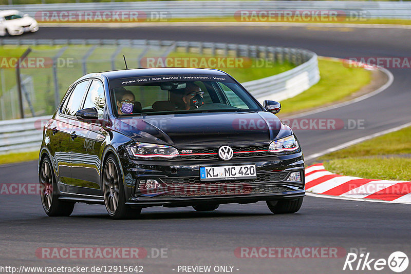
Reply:
[[[139,143],[137,146],[127,147],[132,158],[153,160],[170,159],[179,156],[178,150],[172,146]]]

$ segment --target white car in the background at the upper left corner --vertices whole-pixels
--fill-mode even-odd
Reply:
[[[18,10],[0,11],[0,35],[21,35],[25,32],[39,30],[39,24],[34,18]]]

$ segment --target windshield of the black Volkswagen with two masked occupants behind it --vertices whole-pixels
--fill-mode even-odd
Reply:
[[[110,81],[118,115],[260,111],[253,98],[231,77],[166,75]]]

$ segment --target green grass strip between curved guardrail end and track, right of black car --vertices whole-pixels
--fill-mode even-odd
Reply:
[[[301,94],[281,102],[281,116],[344,100],[371,81],[371,72],[319,58],[321,79]]]

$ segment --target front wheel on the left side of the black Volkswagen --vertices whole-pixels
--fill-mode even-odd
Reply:
[[[104,162],[102,186],[104,204],[111,219],[132,219],[140,215],[141,208],[131,208],[125,204],[123,177],[114,155],[109,155]]]

